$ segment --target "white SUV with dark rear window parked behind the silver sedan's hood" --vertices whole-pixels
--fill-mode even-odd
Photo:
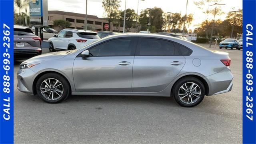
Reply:
[[[80,49],[99,39],[97,32],[66,28],[48,39],[50,42],[49,50],[55,52],[56,50]]]

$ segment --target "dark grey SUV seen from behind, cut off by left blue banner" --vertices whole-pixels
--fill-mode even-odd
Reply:
[[[42,54],[41,39],[25,26],[14,25],[14,60]]]

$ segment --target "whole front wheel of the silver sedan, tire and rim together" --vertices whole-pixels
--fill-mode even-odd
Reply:
[[[38,96],[48,103],[59,103],[71,95],[67,80],[56,73],[41,76],[36,83]]]

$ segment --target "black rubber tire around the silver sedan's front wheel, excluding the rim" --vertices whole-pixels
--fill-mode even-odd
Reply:
[[[45,84],[44,83],[44,80],[47,80],[48,78],[51,78],[51,79],[56,79],[58,80],[62,86],[61,86],[61,89],[63,90],[62,92],[62,95],[59,97],[59,95],[56,94],[56,92],[53,92],[53,90],[50,90],[49,92],[46,92],[45,94],[49,94],[51,91],[54,93],[54,96],[55,97],[59,97],[58,99],[56,100],[49,100],[47,99],[47,95],[46,97],[42,94],[41,92],[41,85],[42,84]],[[49,82],[48,82],[49,83]],[[51,86],[54,85],[54,81],[52,81],[52,83],[50,84]],[[59,83],[57,83],[59,84]],[[57,87],[58,89],[59,87]],[[50,88],[49,88],[50,89]],[[53,89],[53,87],[52,87]],[[52,103],[52,104],[56,104],[56,103],[59,103],[59,102],[62,102],[63,100],[65,100],[66,98],[68,98],[68,96],[71,95],[71,90],[70,90],[70,86],[68,84],[68,81],[63,77],[61,76],[60,74],[56,74],[56,73],[48,73],[48,74],[44,74],[43,76],[41,76],[38,81],[36,82],[36,93],[37,95],[42,99],[44,100],[45,102],[47,103]],[[60,93],[59,93],[60,94]],[[49,94],[50,95],[50,94]],[[50,97],[50,96],[49,96]]]

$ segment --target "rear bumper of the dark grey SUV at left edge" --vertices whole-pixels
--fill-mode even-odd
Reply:
[[[23,60],[42,54],[41,48],[14,49],[14,60]]]

